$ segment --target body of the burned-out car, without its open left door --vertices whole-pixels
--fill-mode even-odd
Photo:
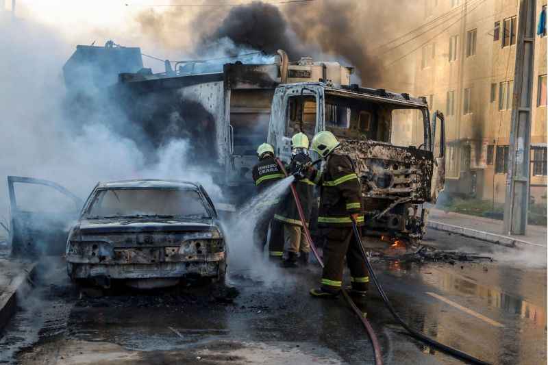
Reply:
[[[206,190],[186,181],[99,183],[66,242],[71,279],[108,287],[224,281],[224,236]]]

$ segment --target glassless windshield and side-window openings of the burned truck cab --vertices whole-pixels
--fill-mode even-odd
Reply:
[[[303,131],[312,138],[313,123],[316,123],[319,130],[332,131],[340,138],[372,140],[401,147],[416,143],[416,148],[431,149],[432,131],[427,105],[347,90],[325,88],[323,91],[324,95],[288,96],[286,137]],[[323,110],[316,108],[319,100]],[[321,120],[318,120],[318,115]],[[404,125],[403,121],[408,123]]]

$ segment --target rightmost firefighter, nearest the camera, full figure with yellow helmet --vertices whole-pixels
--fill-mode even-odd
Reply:
[[[353,160],[340,153],[338,146],[337,138],[330,131],[321,131],[312,138],[312,149],[325,160],[323,172],[310,168],[309,173],[310,179],[321,186],[318,226],[327,231],[321,287],[310,290],[314,297],[338,294],[345,257],[351,275],[351,294],[363,296],[369,286],[369,273],[352,229],[354,221],[361,234],[360,227],[364,224],[360,180]]]

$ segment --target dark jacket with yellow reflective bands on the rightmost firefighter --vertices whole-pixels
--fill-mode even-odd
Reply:
[[[358,225],[364,224],[360,179],[349,156],[332,153],[323,172],[312,172],[310,179],[320,186],[319,227],[351,226],[354,213],[360,213]]]

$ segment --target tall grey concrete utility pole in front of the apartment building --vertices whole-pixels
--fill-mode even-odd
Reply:
[[[525,234],[529,211],[536,0],[520,0],[503,234]]]

